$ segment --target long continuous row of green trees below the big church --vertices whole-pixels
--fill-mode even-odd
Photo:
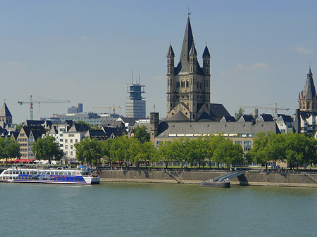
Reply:
[[[159,148],[147,141],[147,139],[131,138],[126,136],[106,141],[97,141],[85,138],[75,144],[76,158],[80,162],[99,163],[101,158],[106,162],[130,162],[137,167],[149,162],[165,162],[166,167],[170,162],[185,164],[197,164],[204,167],[206,160],[209,165],[212,161],[224,162],[228,166],[242,162],[244,152],[240,144],[233,144],[232,140],[224,136],[208,136],[206,138],[187,139],[180,138],[174,141],[161,143]]]

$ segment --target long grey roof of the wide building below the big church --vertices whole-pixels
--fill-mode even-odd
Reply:
[[[159,135],[170,134],[257,134],[259,132],[280,133],[275,122],[161,122]]]

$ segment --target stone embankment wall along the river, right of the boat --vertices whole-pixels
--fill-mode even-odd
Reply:
[[[175,170],[102,170],[101,181],[142,182],[168,184],[200,184],[203,179],[214,179],[225,172]],[[294,186],[317,188],[317,173],[306,172],[245,172],[230,179],[232,185]]]

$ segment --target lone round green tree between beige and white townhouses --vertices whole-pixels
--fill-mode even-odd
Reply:
[[[53,136],[44,136],[40,137],[33,143],[32,152],[35,154],[36,160],[61,160],[63,158],[63,150],[58,146],[58,143],[55,142]]]

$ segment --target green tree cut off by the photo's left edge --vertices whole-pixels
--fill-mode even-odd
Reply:
[[[6,165],[8,165],[8,159],[20,158],[20,146],[18,141],[15,141],[12,137],[0,136],[0,158],[6,159]]]

